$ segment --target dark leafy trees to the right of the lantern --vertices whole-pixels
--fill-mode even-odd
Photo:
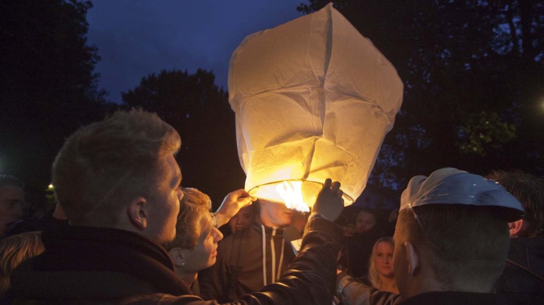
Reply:
[[[446,166],[544,174],[544,1],[338,0],[335,8],[405,85],[374,182],[403,187]]]

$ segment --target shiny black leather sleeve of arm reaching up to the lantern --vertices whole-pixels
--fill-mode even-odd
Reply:
[[[284,272],[282,278],[260,291],[240,297],[228,304],[323,304],[330,305],[335,293],[336,259],[341,244],[341,228],[320,217],[310,215],[299,255]],[[165,294],[139,295],[127,298],[122,304],[219,304],[197,296]]]

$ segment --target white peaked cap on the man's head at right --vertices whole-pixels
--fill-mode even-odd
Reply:
[[[498,182],[456,168],[410,179],[400,197],[400,210],[430,204],[493,207],[506,221],[518,220],[524,212],[520,201]]]

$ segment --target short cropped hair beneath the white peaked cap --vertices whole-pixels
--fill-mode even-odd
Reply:
[[[508,224],[493,207],[424,205],[400,211],[395,243],[419,247],[443,289],[491,291],[504,269],[510,244]]]

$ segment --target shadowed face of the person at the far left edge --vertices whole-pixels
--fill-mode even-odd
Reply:
[[[0,187],[0,237],[21,220],[24,202],[23,189],[14,185]]]

